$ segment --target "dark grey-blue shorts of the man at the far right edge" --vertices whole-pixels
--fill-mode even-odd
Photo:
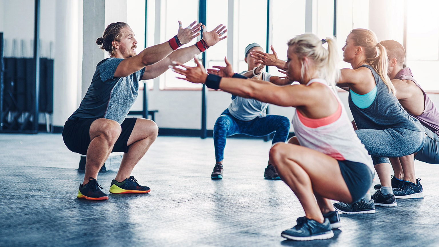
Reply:
[[[422,127],[424,127],[427,138],[425,138],[424,146],[414,158],[429,164],[439,164],[439,136],[427,127]]]

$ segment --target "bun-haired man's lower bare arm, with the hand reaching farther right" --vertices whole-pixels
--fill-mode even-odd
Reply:
[[[227,38],[227,36],[221,37],[222,36],[221,33],[227,32],[227,29],[224,30],[226,26],[222,26],[222,27],[221,26],[222,24],[217,26],[215,29],[213,29],[210,32],[203,33],[203,40],[205,40],[206,44],[208,44],[209,47],[215,45],[220,40]],[[203,29],[205,29],[204,25],[203,25]],[[195,54],[200,54],[200,53],[201,51],[198,50],[198,48],[194,45],[173,51],[171,54],[169,54],[169,56],[162,59],[160,62],[146,66],[145,72],[143,73],[141,80],[154,79],[160,76],[161,74],[165,73],[166,70],[169,69],[169,66],[172,65],[173,61],[180,62],[183,64],[194,58]]]

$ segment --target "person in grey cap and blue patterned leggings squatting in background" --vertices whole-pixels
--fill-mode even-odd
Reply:
[[[261,45],[252,43],[245,47],[244,61],[248,69],[241,74],[254,80],[288,84],[289,80],[280,79],[278,76],[271,76],[262,71],[264,65],[255,62],[250,56],[250,50],[263,51]],[[226,60],[228,64],[228,61]],[[213,66],[216,69],[208,69],[209,73],[221,73],[220,66]],[[291,83],[290,83],[291,84]],[[215,145],[216,164],[213,167],[212,179],[223,178],[223,159],[224,147],[226,146],[227,136],[234,134],[247,134],[251,136],[265,136],[275,132],[272,143],[285,142],[290,130],[290,121],[285,116],[266,115],[268,103],[260,102],[252,98],[243,98],[232,95],[232,102],[229,107],[221,113],[213,127],[213,143]],[[273,165],[268,163],[265,168],[264,178],[281,179]]]

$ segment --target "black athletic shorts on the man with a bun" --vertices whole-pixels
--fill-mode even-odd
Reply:
[[[70,151],[83,155],[87,154],[88,145],[90,145],[90,125],[94,120],[97,120],[97,118],[67,120],[67,122],[65,122],[64,129],[62,130],[62,138]],[[112,153],[128,152],[128,138],[130,138],[136,120],[137,118],[135,117],[123,120],[120,125],[122,127],[122,132],[113,147]]]

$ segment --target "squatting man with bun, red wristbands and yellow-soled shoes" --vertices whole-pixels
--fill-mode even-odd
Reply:
[[[148,47],[136,54],[137,40],[125,22],[107,26],[96,40],[110,58],[99,62],[79,108],[68,118],[63,129],[65,145],[72,152],[87,156],[85,176],[77,197],[86,200],[107,200],[108,196],[96,181],[97,174],[112,152],[124,152],[119,171],[110,193],[148,193],[150,188],[139,185],[131,171],[144,156],[158,135],[157,125],[148,119],[126,118],[137,98],[140,80],[155,78],[166,72],[171,61],[188,62],[194,54],[205,51],[223,36],[227,29],[219,25],[210,32],[202,23],[192,22],[180,27],[176,36],[162,44]],[[200,35],[195,45],[178,49]],[[221,37],[223,36],[223,37]],[[178,50],[177,50],[178,49]]]

